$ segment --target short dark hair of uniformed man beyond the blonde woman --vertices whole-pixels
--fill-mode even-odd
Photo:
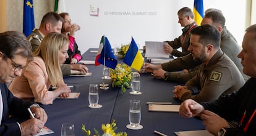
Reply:
[[[48,12],[43,16],[40,25],[45,25],[46,23],[51,23],[55,26],[55,25],[57,25],[57,23],[59,21],[63,22],[63,18],[59,14],[57,14],[55,12]]]

